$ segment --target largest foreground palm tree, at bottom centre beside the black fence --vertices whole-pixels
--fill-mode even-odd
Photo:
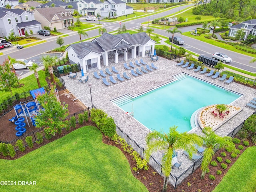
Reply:
[[[146,136],[146,160],[148,161],[150,155],[157,150],[164,150],[162,159],[162,170],[164,172],[164,188],[163,192],[167,190],[167,181],[172,170],[172,154],[174,149],[183,149],[188,152],[189,156],[192,156],[193,152],[196,152],[196,148],[193,144],[202,145],[201,138],[196,134],[188,134],[187,132],[180,133],[176,131],[177,126],[169,128],[169,133],[158,132],[154,130]]]

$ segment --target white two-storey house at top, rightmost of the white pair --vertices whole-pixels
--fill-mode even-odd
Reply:
[[[121,0],[107,0],[103,3],[100,16],[114,18],[133,13],[133,8]]]

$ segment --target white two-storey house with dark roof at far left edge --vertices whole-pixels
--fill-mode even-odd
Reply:
[[[41,23],[35,20],[34,13],[22,9],[0,8],[0,36],[9,36],[14,32],[16,36],[25,36],[26,30],[36,34]]]

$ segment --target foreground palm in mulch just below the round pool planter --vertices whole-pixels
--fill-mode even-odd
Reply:
[[[203,133],[205,136],[201,137],[204,141],[204,145],[206,146],[206,149],[204,150],[204,158],[202,160],[201,169],[202,174],[201,178],[204,179],[204,175],[206,173],[206,170],[212,161],[212,157],[214,156],[216,149],[223,149],[226,147],[231,148],[232,150],[235,149],[235,144],[232,142],[232,138],[225,136],[221,137],[215,134],[214,131],[212,131],[212,128],[205,127],[203,129]]]

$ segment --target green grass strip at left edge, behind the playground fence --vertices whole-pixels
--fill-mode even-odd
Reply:
[[[38,74],[39,74],[39,81],[41,86],[46,86],[47,82],[45,80],[46,76],[44,75],[44,71],[40,70],[38,71]],[[38,89],[38,84],[34,74],[21,79],[19,82],[20,84],[24,84],[24,86],[20,88],[12,89],[13,95],[15,93],[22,93],[22,92],[26,92],[33,89]],[[0,101],[2,101],[3,99],[6,99],[8,96],[11,96],[10,92],[0,92]]]

